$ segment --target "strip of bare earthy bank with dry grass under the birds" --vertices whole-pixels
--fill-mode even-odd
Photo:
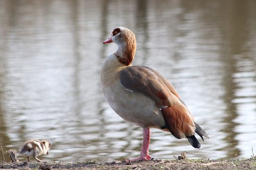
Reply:
[[[12,150],[13,151],[13,150]],[[256,169],[256,156],[252,152],[251,158],[242,159],[188,159],[186,154],[183,152],[181,156],[175,157],[174,159],[152,159],[147,161],[131,162],[129,159],[124,159],[121,162],[106,162],[98,163],[95,160],[84,161],[84,162],[27,162],[18,161],[16,159],[16,152],[8,151],[12,162],[0,161],[0,169],[225,169],[225,170],[235,170],[235,169]],[[3,153],[4,154],[4,153]],[[14,154],[14,155],[13,155]]]

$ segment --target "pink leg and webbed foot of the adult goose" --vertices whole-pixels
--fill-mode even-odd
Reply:
[[[150,160],[151,156],[148,155],[148,148],[150,147],[150,128],[143,128],[143,144],[141,148],[140,157],[130,159],[133,161],[140,161],[140,160]]]

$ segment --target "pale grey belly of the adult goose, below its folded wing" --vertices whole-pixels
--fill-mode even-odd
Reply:
[[[165,125],[161,110],[144,94],[127,90],[120,84],[104,88],[103,92],[111,108],[126,122],[141,127]]]

